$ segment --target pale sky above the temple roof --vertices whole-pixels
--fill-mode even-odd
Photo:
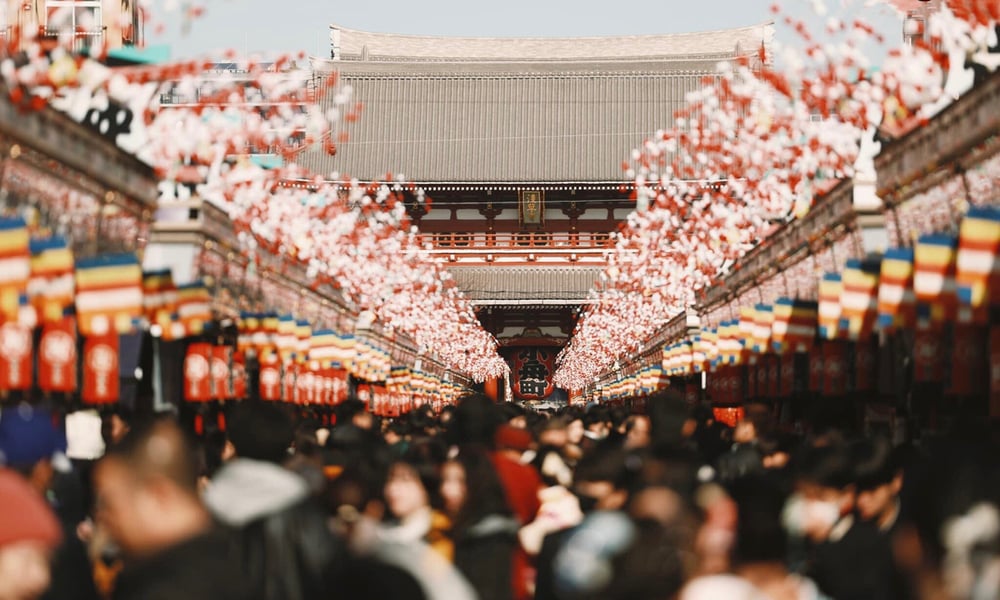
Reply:
[[[215,54],[305,51],[329,55],[329,25],[391,33],[461,36],[593,36],[705,31],[752,25],[772,19],[770,0],[203,0],[206,10],[186,35],[177,11],[154,10],[167,24],[158,36],[147,28],[147,44],[167,43],[172,58]],[[830,15],[860,17],[899,44],[901,24],[879,0],[781,0],[789,12],[808,19],[814,33],[822,19],[812,6],[822,2]],[[185,1],[180,4],[185,4]],[[866,6],[872,4],[872,6]],[[778,26],[777,38],[796,43]]]

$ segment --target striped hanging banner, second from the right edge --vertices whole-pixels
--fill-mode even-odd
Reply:
[[[924,235],[913,255],[913,292],[918,327],[937,327],[956,316],[955,284],[957,240],[950,235]]]

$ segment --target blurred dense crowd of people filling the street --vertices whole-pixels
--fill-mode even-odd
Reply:
[[[108,418],[93,462],[4,407],[0,600],[1000,598],[988,425],[894,445],[646,406],[246,402],[199,436]]]

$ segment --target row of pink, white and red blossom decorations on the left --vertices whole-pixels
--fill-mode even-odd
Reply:
[[[185,18],[199,13],[186,10]],[[252,260],[266,253],[305,265],[315,285],[342,290],[389,334],[410,336],[421,353],[474,380],[507,372],[496,340],[406,217],[404,196],[429,202],[421,190],[391,176],[327,181],[295,165],[315,144],[336,152],[326,132],[361,111],[349,86],[331,77],[313,89],[310,74],[293,65],[302,55],[273,64],[243,61],[238,79],[209,79],[202,76],[213,66],[207,61],[108,67],[69,52],[68,40],[52,48],[33,36],[15,32],[12,43],[24,52],[17,62],[0,61],[10,98],[29,110],[52,105],[78,120],[95,102],[127,107],[143,126],[120,136],[119,145],[154,166],[163,181],[161,207],[197,194],[230,215]],[[190,102],[160,106],[164,93]],[[325,94],[334,100],[326,111],[317,102]],[[277,154],[285,165],[253,163],[254,149]],[[301,181],[308,185],[288,183]]]

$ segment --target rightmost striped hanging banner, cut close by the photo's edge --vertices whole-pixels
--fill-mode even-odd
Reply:
[[[959,322],[985,325],[1000,303],[1000,208],[970,208],[958,233]]]

